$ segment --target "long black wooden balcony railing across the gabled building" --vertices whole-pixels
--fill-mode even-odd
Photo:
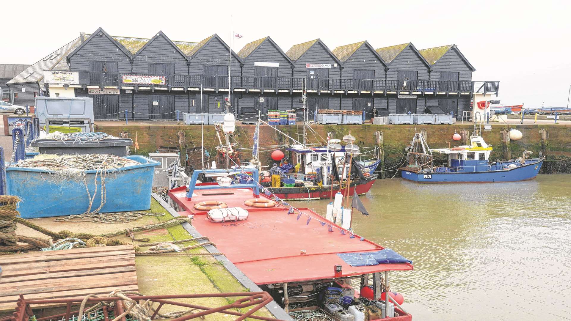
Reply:
[[[136,73],[93,73],[80,72],[78,85],[89,86],[139,86],[184,87],[227,89],[228,76],[225,75],[152,75]],[[424,81],[396,79],[306,79],[307,89],[316,91],[413,91],[445,93],[495,93],[500,82],[474,81]],[[232,89],[258,90],[301,90],[303,77],[254,77],[232,76]],[[477,86],[477,87],[475,87]]]

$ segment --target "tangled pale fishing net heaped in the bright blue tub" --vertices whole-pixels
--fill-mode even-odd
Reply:
[[[74,183],[82,183],[85,186],[87,196],[89,197],[89,207],[85,211],[85,214],[94,214],[99,212],[106,202],[107,191],[105,180],[107,176],[116,175],[118,172],[117,170],[122,170],[125,167],[135,166],[138,164],[140,163],[135,160],[115,155],[86,154],[58,156],[43,154],[32,159],[20,160],[15,164],[15,167],[39,168],[45,170],[50,176],[49,181],[58,187],[60,191],[59,196],[62,195],[62,188],[73,187]],[[95,185],[93,195],[91,195],[87,183],[87,171],[95,171],[93,172]],[[99,190],[98,178],[101,182],[99,191],[101,203],[98,208],[92,211],[91,207],[93,207],[95,196]]]

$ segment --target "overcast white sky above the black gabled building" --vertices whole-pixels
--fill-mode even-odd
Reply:
[[[475,81],[500,81],[502,103],[566,106],[571,85],[569,1],[5,1],[0,63],[34,63],[103,27],[111,35],[198,42],[232,29],[246,43],[269,35],[287,51],[321,38],[329,49],[363,40],[375,48],[455,43]]]

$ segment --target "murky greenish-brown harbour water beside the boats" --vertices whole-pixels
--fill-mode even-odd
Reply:
[[[571,320],[570,181],[377,180],[353,229],[413,260],[389,282],[416,320]],[[325,215],[328,200],[291,203]]]

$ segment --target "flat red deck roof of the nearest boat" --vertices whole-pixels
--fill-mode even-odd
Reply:
[[[303,214],[288,215],[288,208],[252,208],[244,201],[252,198],[250,188],[224,190],[195,190],[192,200],[186,200],[185,187],[168,193],[189,214],[195,215],[192,226],[208,236],[232,263],[257,284],[295,282],[334,278],[334,266],[341,264],[342,276],[361,275],[389,270],[412,270],[409,263],[378,264],[352,267],[337,253],[379,251],[383,247],[369,240],[360,240],[307,208]],[[260,198],[267,198],[260,195]],[[228,207],[246,208],[249,217],[235,223],[213,223],[206,212],[194,209],[194,204],[207,200],[226,202]],[[308,218],[311,218],[308,222]],[[321,223],[325,223],[322,226]],[[329,232],[327,224],[333,226]],[[343,230],[345,234],[341,234]],[[306,254],[301,254],[305,250]]]

